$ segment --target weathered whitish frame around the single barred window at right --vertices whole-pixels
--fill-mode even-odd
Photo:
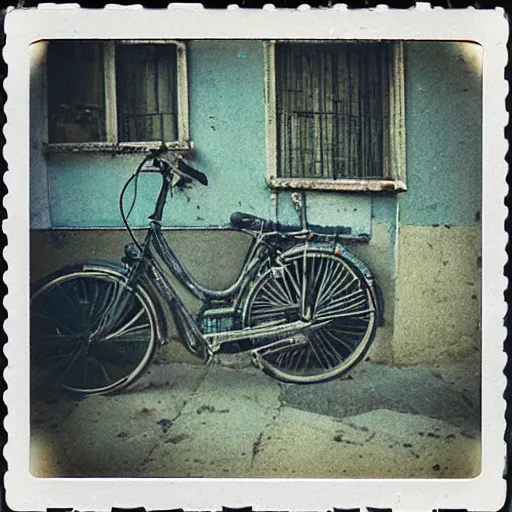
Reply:
[[[267,145],[267,184],[273,189],[403,192],[407,190],[405,169],[405,81],[403,42],[395,41],[394,64],[397,73],[392,77],[390,104],[390,133],[392,134],[390,159],[394,162],[391,179],[320,179],[320,178],[280,178],[277,176],[277,98],[276,98],[276,44],[277,43],[333,43],[334,40],[269,40],[264,42],[265,53],[265,105],[266,105],[266,145]],[[343,41],[338,41],[343,44]],[[349,42],[348,40],[346,42]]]

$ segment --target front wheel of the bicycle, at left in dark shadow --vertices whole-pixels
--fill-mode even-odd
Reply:
[[[48,280],[31,298],[32,384],[80,394],[125,388],[156,352],[155,311],[121,274],[80,269]]]

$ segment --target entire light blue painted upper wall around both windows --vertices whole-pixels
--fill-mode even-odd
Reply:
[[[408,191],[400,222],[471,224],[480,210],[481,85],[470,43],[406,43]],[[260,41],[191,41],[188,52],[191,163],[209,186],[194,185],[168,201],[164,223],[225,225],[233,211],[271,218],[265,184],[264,56]],[[48,157],[54,226],[119,226],[118,193],[140,155],[53,154]],[[145,225],[159,190],[142,176],[131,222]],[[127,195],[129,204],[130,194]],[[279,220],[296,224],[289,193]],[[308,193],[309,221],[371,234],[374,222],[396,220],[393,195]]]

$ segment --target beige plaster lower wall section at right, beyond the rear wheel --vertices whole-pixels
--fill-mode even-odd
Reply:
[[[479,357],[480,254],[479,226],[400,227],[395,362]]]

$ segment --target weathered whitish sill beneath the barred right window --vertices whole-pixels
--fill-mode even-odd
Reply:
[[[345,192],[388,192],[398,193],[407,190],[401,180],[322,180],[300,178],[270,178],[267,180],[271,188],[325,190]]]

